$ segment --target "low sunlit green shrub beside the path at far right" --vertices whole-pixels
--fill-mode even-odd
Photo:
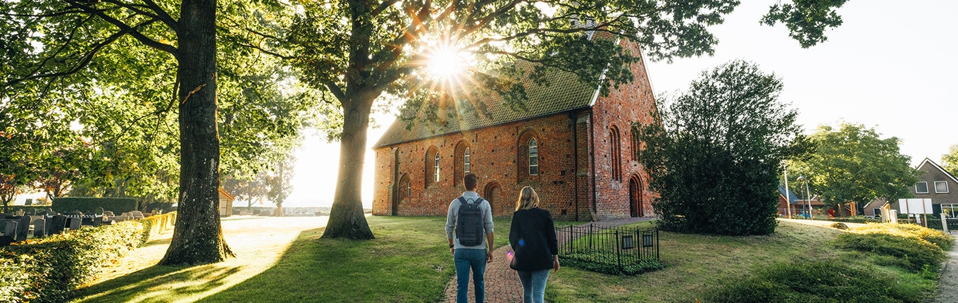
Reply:
[[[937,268],[945,261],[941,247],[916,237],[900,237],[886,233],[845,233],[835,240],[839,248],[873,252],[891,256],[894,265],[918,271],[924,266]]]

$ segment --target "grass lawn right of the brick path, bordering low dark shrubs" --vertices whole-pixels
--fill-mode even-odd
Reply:
[[[636,225],[649,225],[642,222]],[[799,221],[780,221],[768,236],[730,237],[660,232],[661,262],[666,268],[638,276],[605,275],[562,268],[549,277],[546,300],[552,302],[704,302],[710,292],[776,263],[796,267],[835,259],[899,278],[921,300],[933,294],[935,280],[901,268],[876,266],[876,258],[836,248],[841,231]]]

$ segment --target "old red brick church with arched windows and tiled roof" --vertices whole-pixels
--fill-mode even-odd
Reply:
[[[640,54],[637,45],[620,43]],[[631,124],[652,123],[655,100],[644,62],[632,73],[635,81],[608,97],[558,72],[549,86],[527,87],[526,111],[493,96],[480,101],[488,114],[461,115],[445,126],[406,129],[397,120],[373,147],[373,214],[445,216],[465,191],[463,175],[472,173],[493,216],[511,216],[524,186],[556,220],[654,216]]]

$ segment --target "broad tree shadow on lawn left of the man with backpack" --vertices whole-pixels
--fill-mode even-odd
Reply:
[[[389,222],[377,223],[382,221]],[[303,231],[273,267],[200,302],[438,300],[453,274],[452,259],[441,224],[426,223],[440,226],[440,232],[410,225],[387,231],[376,225],[371,226],[376,240],[351,241],[319,239],[325,228]],[[403,230],[407,233],[395,234]]]

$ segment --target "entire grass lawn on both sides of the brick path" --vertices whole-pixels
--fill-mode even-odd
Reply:
[[[78,301],[439,300],[455,271],[443,230],[445,218],[374,216],[367,219],[376,240],[320,239],[323,228],[308,229],[290,236],[285,245],[257,248],[263,251],[243,253],[223,264],[194,268],[152,266],[117,275],[80,290]],[[510,218],[495,219],[496,246],[508,242],[510,221]],[[570,222],[557,222],[557,225],[566,224]],[[924,299],[928,291],[934,291],[935,279],[901,268],[878,267],[874,264],[880,260],[869,254],[836,248],[833,239],[840,233],[802,221],[780,221],[777,232],[769,236],[661,232],[661,261],[666,268],[638,276],[617,276],[563,267],[550,276],[546,299],[552,302],[695,302],[773,264],[792,262],[800,267],[824,259],[894,275],[898,283],[909,285],[919,296],[916,299]],[[231,245],[241,246],[246,242],[234,240]],[[140,250],[133,253],[138,252]],[[272,254],[275,257],[270,257]]]

